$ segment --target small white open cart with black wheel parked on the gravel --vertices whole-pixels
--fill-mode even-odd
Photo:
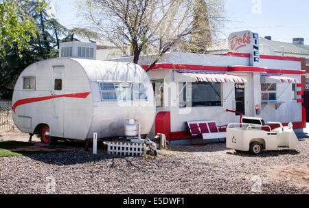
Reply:
[[[258,117],[242,117],[241,124],[229,124],[227,126],[227,148],[251,154],[260,154],[262,150],[293,150],[299,143],[293,124],[283,126],[279,122],[279,128],[271,130],[264,120]]]

